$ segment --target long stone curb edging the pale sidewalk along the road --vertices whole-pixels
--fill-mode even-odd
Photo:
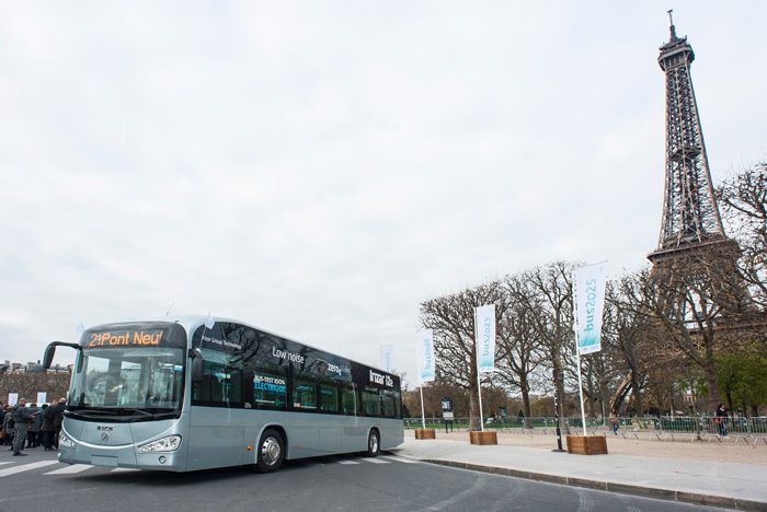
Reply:
[[[585,478],[566,477],[561,475],[550,475],[548,473],[525,472],[508,467],[483,466],[481,464],[460,463],[456,461],[440,461],[436,458],[421,458],[421,462],[437,464],[440,466],[457,467],[470,472],[490,473],[513,478],[525,478],[527,480],[545,481],[548,484],[559,484],[562,486],[585,487],[587,489],[618,492],[621,494],[643,496],[659,500],[679,501],[683,503],[721,507],[725,509],[767,511],[767,502],[741,500],[716,494],[701,494],[698,492],[677,491],[661,489],[657,487],[632,486],[629,484],[616,484],[611,481],[588,480]]]

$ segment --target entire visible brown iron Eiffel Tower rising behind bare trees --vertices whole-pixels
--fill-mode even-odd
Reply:
[[[724,233],[722,218],[711,182],[700,114],[690,77],[695,60],[687,37],[678,37],[672,18],[669,39],[661,46],[657,63],[666,75],[666,166],[663,219],[657,247],[648,255],[651,275],[664,282],[662,299],[666,314],[689,324],[694,333],[692,312],[686,311],[687,278],[709,282],[712,298],[726,307],[719,321],[729,323],[742,311],[747,293],[737,275],[737,243]],[[629,373],[618,386],[610,408],[619,410],[632,387]]]

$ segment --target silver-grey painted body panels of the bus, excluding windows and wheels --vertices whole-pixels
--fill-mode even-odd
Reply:
[[[168,319],[163,318],[162,322]],[[183,347],[183,397],[174,417],[145,419],[138,416],[131,417],[128,421],[113,421],[107,417],[83,418],[82,415],[87,415],[88,409],[72,407],[77,397],[70,396],[61,429],[59,462],[171,472],[251,465],[257,463],[259,440],[267,429],[278,432],[284,438],[284,459],[364,452],[369,447],[368,442],[374,431],[378,433],[380,450],[392,449],[403,442],[401,396],[399,379],[396,376],[393,376],[396,379],[394,396],[398,400],[396,417],[366,416],[360,414],[363,411],[358,410],[359,407],[356,404],[355,410],[358,412],[354,415],[341,414],[341,410],[331,414],[302,412],[290,410],[293,409],[290,406],[286,407],[286,410],[267,410],[254,408],[253,405],[221,407],[194,404],[193,365],[187,354],[193,354],[196,348],[192,346],[194,334],[201,328],[204,329],[205,322],[204,317],[182,317],[175,321],[175,324],[183,327],[186,339]],[[232,319],[217,318],[216,322],[255,329]],[[108,328],[110,325],[98,326],[95,329]],[[84,337],[89,331],[83,334],[83,341],[81,341],[83,346]],[[259,333],[268,335],[261,330]],[[205,337],[205,330],[202,337]],[[316,350],[290,342],[308,351]],[[95,352],[98,349],[91,350]],[[317,352],[327,354],[327,352]],[[82,350],[78,354],[78,359],[80,358],[83,358]],[[374,377],[374,373],[377,376],[386,374],[381,370],[344,358],[335,357],[334,361],[368,369],[370,379]],[[77,379],[84,379],[78,371],[84,371],[82,364],[76,364],[72,388],[77,386]],[[387,382],[388,380],[387,376]],[[358,393],[355,394],[355,397],[358,396],[360,396]],[[341,398],[336,396],[336,403],[340,404],[340,402]],[[146,451],[146,446],[154,441],[174,435],[181,438],[176,449]]]

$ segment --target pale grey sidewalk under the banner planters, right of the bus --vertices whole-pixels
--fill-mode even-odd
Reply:
[[[508,435],[508,434],[507,434]],[[499,475],[588,487],[611,492],[684,501],[740,510],[767,511],[767,466],[764,464],[671,458],[663,455],[571,455],[549,449],[504,443],[478,446],[468,432],[416,441],[405,434],[398,455]],[[562,439],[563,444],[564,439]],[[608,439],[608,452],[610,450]],[[657,444],[656,446],[663,446]],[[566,447],[566,446],[565,446]],[[705,446],[701,446],[705,449]],[[654,449],[649,449],[649,452]]]

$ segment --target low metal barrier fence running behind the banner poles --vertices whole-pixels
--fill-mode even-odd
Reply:
[[[421,418],[405,418],[405,429],[422,428]],[[450,430],[469,430],[469,418],[456,418],[447,427]],[[767,416],[728,417],[720,419],[710,416],[646,416],[618,418],[617,428],[609,420],[586,420],[586,431],[591,434],[605,433],[625,439],[649,439],[656,441],[708,441],[723,442],[731,440],[737,444],[767,445]],[[426,428],[444,430],[446,422],[442,418],[426,418]],[[485,429],[520,434],[553,434],[557,428],[554,417],[530,418],[491,418],[484,423]],[[565,418],[563,428],[580,430],[581,418]]]

